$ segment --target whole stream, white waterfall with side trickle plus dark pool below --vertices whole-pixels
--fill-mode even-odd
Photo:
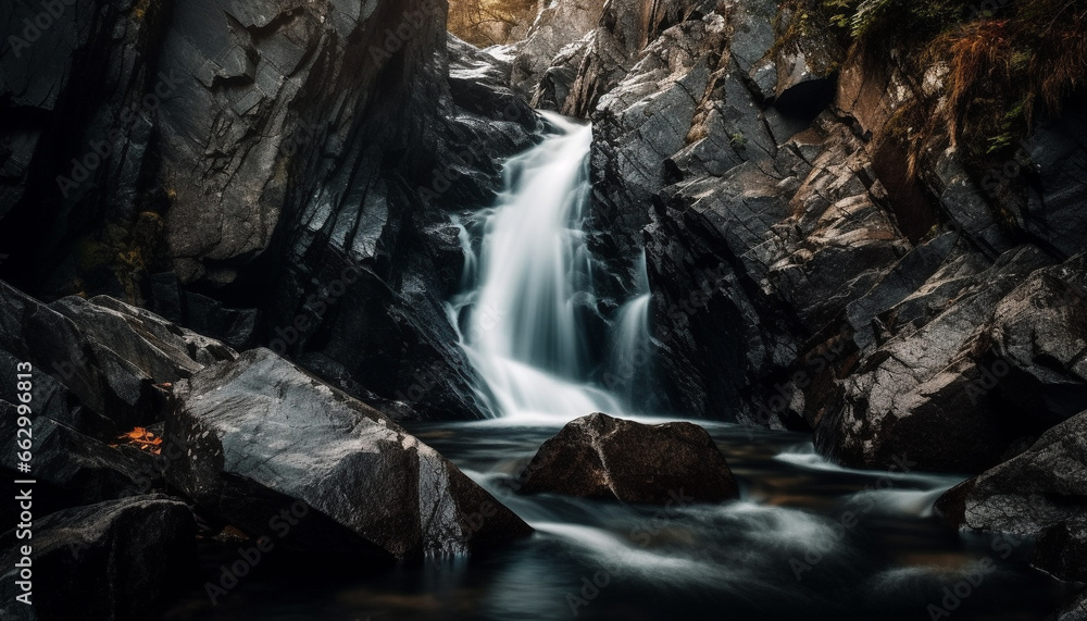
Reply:
[[[1028,568],[1029,543],[959,536],[933,513],[963,476],[839,468],[803,434],[696,421],[741,486],[721,505],[518,494],[518,473],[563,423],[594,411],[662,420],[629,392],[650,368],[630,363],[649,338],[644,260],[614,316],[594,316],[591,127],[548,120],[555,133],[509,161],[497,204],[460,222],[467,261],[449,319],[491,418],[407,425],[536,534],[371,576],[254,576],[214,608],[193,594],[168,619],[1011,621],[1055,606],[1064,594]],[[610,334],[590,346],[601,325]],[[590,380],[605,370],[615,385]]]

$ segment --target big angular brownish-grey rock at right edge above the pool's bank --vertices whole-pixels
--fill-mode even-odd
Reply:
[[[980,271],[949,261],[878,313],[895,336],[844,382],[840,413],[817,430],[824,449],[857,465],[907,454],[921,469],[979,472],[1087,408],[1087,263],[1037,269],[1048,262],[1029,248]]]

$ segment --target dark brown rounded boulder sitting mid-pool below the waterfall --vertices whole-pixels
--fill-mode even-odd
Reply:
[[[644,425],[600,413],[569,423],[544,443],[521,479],[528,494],[642,505],[739,496],[725,457],[702,427]]]

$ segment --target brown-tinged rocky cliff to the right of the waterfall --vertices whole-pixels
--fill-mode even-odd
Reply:
[[[595,123],[595,248],[616,290],[646,248],[676,410],[994,465],[1087,407],[1085,109],[979,175],[902,139],[946,71],[791,7],[615,0],[552,58],[537,103]]]

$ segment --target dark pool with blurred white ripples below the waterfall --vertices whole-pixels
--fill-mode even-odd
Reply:
[[[700,424],[742,498],[670,511],[517,495],[517,473],[558,427],[411,425],[537,534],[374,575],[254,572],[215,606],[193,588],[166,618],[1012,621],[1045,619],[1071,597],[1027,567],[1029,542],[963,537],[932,513],[961,476],[850,471],[801,434]],[[204,560],[213,571],[215,556]]]

